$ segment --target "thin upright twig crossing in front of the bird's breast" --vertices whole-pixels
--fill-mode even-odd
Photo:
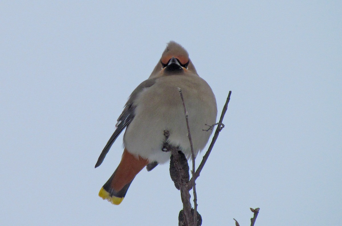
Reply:
[[[193,142],[192,142],[191,134],[190,134],[188,112],[186,111],[182,89],[178,88],[178,91],[179,91],[179,95],[181,96],[182,103],[183,103],[183,108],[184,108],[186,128],[188,130],[188,139],[189,139],[189,142],[190,142],[191,158],[192,158],[192,164],[193,164],[193,167],[192,167],[193,169],[192,169],[191,173],[192,173],[192,177],[194,177],[195,176],[195,169],[196,169],[196,167],[195,167],[195,153],[194,153],[194,146],[193,146]],[[194,226],[197,226],[197,206],[198,205],[197,205],[196,182],[193,183],[193,194],[194,194]]]

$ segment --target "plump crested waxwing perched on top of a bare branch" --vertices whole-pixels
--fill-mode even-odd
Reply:
[[[171,152],[162,151],[166,142],[178,147],[189,159],[190,142],[184,114],[182,90],[190,136],[195,156],[204,149],[217,116],[214,93],[202,79],[180,44],[170,41],[147,80],[129,96],[119,116],[116,129],[98,157],[95,168],[103,162],[120,133],[123,136],[121,161],[100,189],[99,196],[120,204],[135,176],[144,168],[148,171],[170,160]],[[168,132],[168,137],[164,132]]]

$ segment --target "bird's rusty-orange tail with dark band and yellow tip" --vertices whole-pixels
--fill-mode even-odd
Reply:
[[[120,204],[136,174],[147,164],[147,159],[141,157],[136,158],[125,148],[118,168],[116,168],[113,175],[103,185],[98,196],[102,199],[107,199],[115,205]]]

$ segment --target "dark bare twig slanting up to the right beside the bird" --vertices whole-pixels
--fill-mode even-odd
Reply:
[[[207,159],[208,159],[208,157],[210,155],[210,152],[213,149],[214,144],[215,144],[217,138],[219,137],[219,133],[221,132],[221,130],[224,127],[222,121],[223,121],[224,115],[226,114],[226,111],[228,109],[228,103],[229,103],[229,100],[231,99],[231,94],[232,94],[232,91],[229,91],[226,103],[224,104],[224,107],[223,107],[223,110],[222,110],[222,113],[221,113],[220,121],[218,122],[219,126],[216,128],[216,131],[215,131],[214,137],[213,137],[213,139],[212,139],[212,141],[210,143],[209,149],[206,152],[206,154],[203,156],[203,159],[202,159],[201,163],[199,164],[199,166],[198,166],[198,168],[196,170],[195,176],[193,175],[193,177],[189,181],[189,185],[188,185],[189,187],[192,187],[193,183],[195,183],[195,180],[199,177],[199,174],[201,173],[201,171],[202,171],[202,169],[204,167],[204,164],[206,164],[206,161],[207,161]]]

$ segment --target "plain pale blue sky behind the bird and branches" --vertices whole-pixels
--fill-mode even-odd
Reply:
[[[119,206],[97,194],[122,135],[94,169],[170,40],[219,112],[232,90],[197,180],[203,225],[249,225],[250,207],[256,225],[340,225],[341,1],[2,1],[0,225],[177,225],[168,164]]]

